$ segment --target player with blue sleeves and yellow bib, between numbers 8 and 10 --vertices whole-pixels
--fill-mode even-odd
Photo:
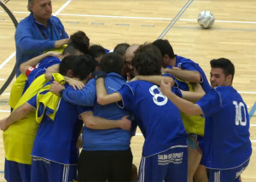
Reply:
[[[206,93],[211,89],[200,65],[193,60],[174,54],[172,45],[168,40],[158,39],[153,44],[160,49],[162,54],[164,75],[171,74],[178,88],[184,91],[193,91],[192,84],[199,82]],[[204,119],[199,116],[188,116],[183,112],[181,114],[186,132],[189,134],[189,182],[205,181],[207,173],[206,169],[199,165],[201,149],[197,144],[198,142],[201,143],[204,136]]]

